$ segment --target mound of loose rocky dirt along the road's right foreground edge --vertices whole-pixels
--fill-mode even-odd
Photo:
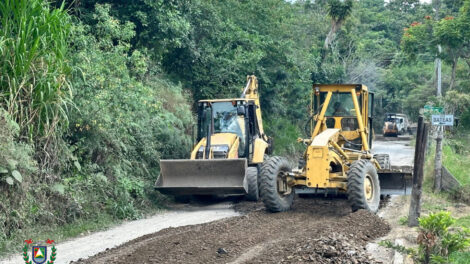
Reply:
[[[360,210],[280,241],[266,250],[269,255],[259,256],[253,263],[377,263],[364,247],[389,231],[383,219]]]

